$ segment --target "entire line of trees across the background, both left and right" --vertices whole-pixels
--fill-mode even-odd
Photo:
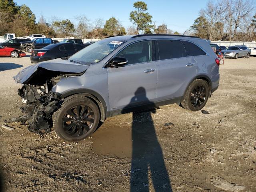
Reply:
[[[86,15],[79,15],[74,18],[74,24],[69,19],[52,18],[49,21],[41,15],[36,22],[35,14],[27,5],[0,0],[0,34],[14,32],[16,36],[44,34],[59,38],[100,39],[125,34],[180,34],[168,29],[164,23],[153,25],[145,2],[135,2],[133,7],[129,17],[132,26],[125,29],[114,17],[104,22],[101,18],[92,21]],[[252,10],[251,0],[209,0],[188,34],[210,40],[255,40],[256,14],[252,17]]]

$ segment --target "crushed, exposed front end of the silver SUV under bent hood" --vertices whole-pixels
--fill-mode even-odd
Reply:
[[[25,115],[12,118],[7,122],[22,122],[28,126],[29,131],[43,136],[43,134],[51,131],[52,114],[63,102],[58,93],[52,92],[52,87],[63,78],[84,74],[88,66],[75,72],[72,70],[68,72],[68,69],[51,71],[39,65],[34,72],[31,72],[33,68],[35,67],[29,67],[14,76],[17,83],[23,84],[22,88],[18,89],[18,95],[22,98],[23,106],[20,109]],[[63,69],[65,68],[62,67]]]

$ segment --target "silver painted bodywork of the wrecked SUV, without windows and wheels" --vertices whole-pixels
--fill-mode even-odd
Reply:
[[[80,73],[86,70],[80,76],[61,78],[52,87],[52,92],[65,96],[79,92],[94,93],[94,96],[100,96],[99,100],[106,104],[107,112],[122,110],[124,106],[130,104],[134,97],[134,92],[139,87],[144,87],[148,100],[155,103],[174,98],[178,98],[178,100],[173,102],[180,102],[186,88],[196,78],[207,79],[212,90],[218,88],[220,76],[219,66],[215,62],[217,56],[212,51],[208,40],[186,36],[131,37],[116,36],[108,38],[124,43],[96,64],[86,66],[61,59],[50,60],[40,62],[20,71],[14,79],[17,83],[24,83],[39,67],[52,71],[73,73]],[[106,67],[108,61],[129,44],[142,40],[158,39],[187,40],[202,48],[206,52],[206,55],[157,60],[127,65],[120,68]],[[186,66],[188,64],[194,65]],[[144,72],[145,70],[151,69],[154,71],[150,73]],[[139,100],[133,102],[136,106],[143,104],[144,101]]]

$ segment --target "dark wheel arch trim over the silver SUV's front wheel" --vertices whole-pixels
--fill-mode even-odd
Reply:
[[[106,113],[107,113],[106,102],[104,98],[102,98],[102,96],[97,92],[93,90],[88,90],[88,89],[76,89],[76,90],[72,90],[64,94],[61,94],[60,98],[65,101],[78,96],[85,96],[92,99],[94,102],[96,102],[96,104],[100,109],[100,121],[104,122],[104,120],[106,119]]]

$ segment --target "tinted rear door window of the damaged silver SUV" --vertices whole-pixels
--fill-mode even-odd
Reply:
[[[180,40],[157,40],[159,59],[173,59],[185,57],[184,45]]]

